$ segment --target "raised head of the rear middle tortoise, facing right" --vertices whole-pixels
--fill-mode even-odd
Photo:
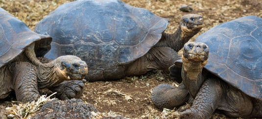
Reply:
[[[204,19],[198,14],[187,14],[184,15],[180,20],[180,25],[184,29],[196,30],[203,27]]]

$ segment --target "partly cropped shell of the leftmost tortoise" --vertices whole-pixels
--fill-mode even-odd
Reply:
[[[0,8],[0,68],[21,54],[25,47],[35,42],[37,56],[50,49],[50,36],[31,31],[26,24]]]

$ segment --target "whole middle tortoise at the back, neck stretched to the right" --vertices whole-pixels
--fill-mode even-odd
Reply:
[[[168,68],[176,51],[203,27],[197,14],[184,15],[173,34],[168,20],[120,0],[76,0],[60,5],[35,26],[53,38],[45,55],[76,55],[87,62],[87,80],[111,80]],[[169,71],[168,71],[169,72]]]

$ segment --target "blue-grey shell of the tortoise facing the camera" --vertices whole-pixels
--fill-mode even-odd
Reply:
[[[262,18],[247,16],[220,24],[195,41],[209,46],[208,71],[245,94],[262,98]]]

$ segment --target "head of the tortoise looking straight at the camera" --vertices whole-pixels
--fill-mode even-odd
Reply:
[[[209,48],[204,43],[188,42],[184,45],[182,55],[183,63],[195,62],[201,63],[204,67],[208,62]]]

